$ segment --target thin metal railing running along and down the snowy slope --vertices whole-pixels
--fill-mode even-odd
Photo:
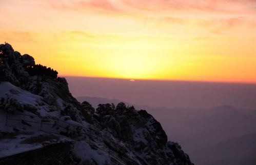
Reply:
[[[12,121],[12,122],[9,122]],[[77,123],[74,125],[65,120],[60,120],[57,118],[49,118],[49,117],[41,117],[34,115],[26,115],[26,114],[15,114],[15,113],[7,113],[6,114],[6,126],[9,127],[20,127],[23,124],[23,128],[32,127],[37,131],[47,132],[47,133],[56,133],[56,134],[64,134],[68,136],[75,135],[87,135],[89,137],[89,143],[91,144],[91,139],[97,139],[101,141],[102,146],[94,146],[97,149],[101,150],[103,153],[113,157],[116,160],[123,162],[124,164],[138,164],[131,158],[129,158],[126,154],[117,153],[110,148],[105,147],[104,142],[101,140],[99,136],[95,136],[95,131],[91,128],[84,127]]]

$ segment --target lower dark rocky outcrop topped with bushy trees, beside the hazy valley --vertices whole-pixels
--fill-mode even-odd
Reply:
[[[106,108],[106,112],[104,109]],[[136,111],[121,102],[116,108],[109,104],[99,105],[98,120],[104,130],[108,129],[118,140],[124,141],[133,152],[137,153],[140,163],[146,164],[191,164],[189,157],[176,143],[168,142],[161,124],[145,110]],[[170,145],[174,144],[174,147]],[[115,142],[108,141],[109,146]],[[112,148],[119,148],[115,146]],[[119,151],[122,149],[118,149]]]

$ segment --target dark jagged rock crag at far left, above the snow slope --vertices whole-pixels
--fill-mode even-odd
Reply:
[[[0,81],[9,81],[17,87],[42,96],[44,102],[54,107],[51,111],[65,111],[64,114],[70,115],[73,120],[83,120],[80,112],[82,107],[70,94],[65,78],[49,76],[57,72],[35,65],[32,56],[21,55],[10,44],[1,44],[0,52]],[[43,68],[43,71],[38,70],[38,67]]]

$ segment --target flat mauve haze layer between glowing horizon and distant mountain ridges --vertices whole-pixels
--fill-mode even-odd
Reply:
[[[116,98],[136,105],[212,108],[230,105],[256,109],[256,85],[66,77],[74,97]]]

